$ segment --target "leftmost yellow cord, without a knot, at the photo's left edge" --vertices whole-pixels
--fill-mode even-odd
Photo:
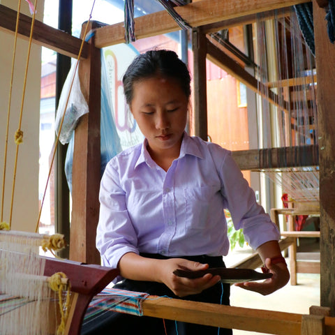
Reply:
[[[7,110],[7,126],[6,126],[6,140],[5,140],[5,150],[4,150],[4,154],[3,154],[3,182],[2,182],[1,218],[0,218],[0,221],[3,221],[3,204],[4,204],[4,197],[5,197],[5,180],[6,180],[6,165],[7,165],[7,150],[8,150],[8,132],[9,132],[9,120],[10,120],[10,102],[12,100],[14,64],[15,64],[16,45],[17,45],[17,31],[19,29],[20,7],[21,7],[21,0],[19,0],[19,2],[17,4],[17,16],[16,16],[14,48],[13,48],[13,58],[12,58],[12,70],[10,72],[10,85],[9,85],[8,110]]]

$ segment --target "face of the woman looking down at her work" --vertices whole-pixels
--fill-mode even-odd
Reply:
[[[135,82],[130,108],[149,150],[156,154],[170,150],[179,156],[188,98],[177,80],[157,76]]]

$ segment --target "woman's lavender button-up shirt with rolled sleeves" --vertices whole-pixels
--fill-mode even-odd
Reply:
[[[184,133],[179,158],[165,172],[146,147],[144,140],[121,152],[103,174],[96,237],[103,265],[117,267],[128,252],[227,255],[223,209],[253,248],[278,240],[230,151]]]

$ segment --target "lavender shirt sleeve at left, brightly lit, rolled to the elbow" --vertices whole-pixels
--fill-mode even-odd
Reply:
[[[137,234],[126,207],[126,194],[120,186],[119,173],[107,164],[100,188],[100,216],[96,247],[104,266],[117,268],[120,258],[137,251]]]

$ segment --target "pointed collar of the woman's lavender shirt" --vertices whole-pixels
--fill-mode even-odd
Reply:
[[[156,163],[152,160],[148,150],[147,150],[148,140],[144,138],[141,148],[141,154],[137,158],[135,168],[142,163],[147,163],[150,168],[156,168]],[[183,140],[181,142],[179,158],[183,158],[186,155],[196,156],[198,158],[204,158],[198,142],[193,140],[193,138],[184,131]]]

